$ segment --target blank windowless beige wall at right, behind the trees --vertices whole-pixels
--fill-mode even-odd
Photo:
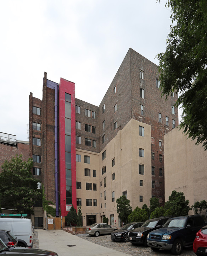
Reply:
[[[207,199],[207,151],[195,143],[178,128],[164,135],[166,201],[173,190],[183,192],[190,207]]]

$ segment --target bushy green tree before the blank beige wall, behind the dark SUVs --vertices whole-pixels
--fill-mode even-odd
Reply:
[[[164,216],[173,215],[174,217],[188,215],[190,210],[189,200],[185,200],[184,193],[172,191],[168,201],[164,204]]]

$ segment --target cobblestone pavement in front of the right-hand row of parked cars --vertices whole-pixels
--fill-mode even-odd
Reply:
[[[95,244],[102,245],[110,249],[121,251],[133,256],[138,256],[138,255],[171,256],[172,255],[170,251],[160,250],[159,252],[153,252],[150,249],[150,247],[136,246],[131,244],[130,242],[121,242],[121,241],[115,242],[111,240],[111,235],[100,235],[98,237],[95,237],[95,236],[90,236],[88,234],[80,234],[77,236],[85,240],[88,240],[90,242],[93,242]],[[192,247],[190,247],[190,248],[184,248],[181,255],[195,256],[195,253],[193,252]]]

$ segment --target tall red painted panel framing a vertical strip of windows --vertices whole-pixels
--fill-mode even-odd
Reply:
[[[59,85],[59,161],[60,161],[60,209],[65,217],[66,211],[66,164],[65,164],[65,92],[71,94],[71,168],[72,204],[76,209],[76,169],[75,169],[75,84],[63,78]]]

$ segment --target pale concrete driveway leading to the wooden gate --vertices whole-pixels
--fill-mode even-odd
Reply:
[[[59,256],[129,256],[120,251],[86,241],[63,230],[38,229],[37,231],[39,248],[55,251]]]

